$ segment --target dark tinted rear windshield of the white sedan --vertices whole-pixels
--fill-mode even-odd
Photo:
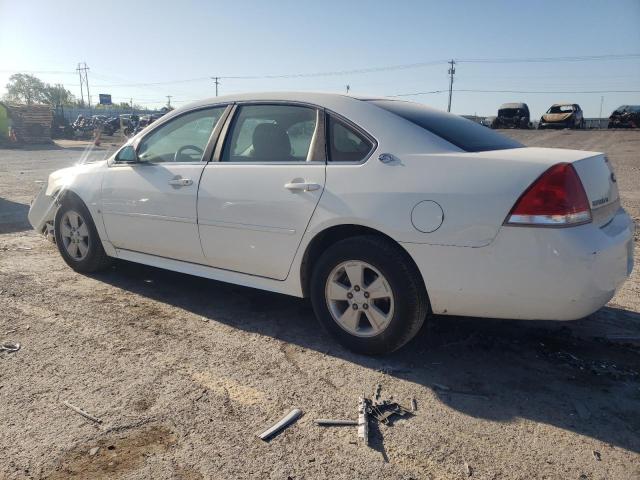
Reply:
[[[401,100],[367,100],[452,143],[466,152],[520,148],[523,145],[466,118]]]

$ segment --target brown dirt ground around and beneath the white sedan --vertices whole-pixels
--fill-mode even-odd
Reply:
[[[607,152],[640,223],[640,131],[507,134]],[[580,321],[439,317],[359,356],[305,300],[122,262],[70,270],[26,223],[34,181],[112,148],[0,150],[0,341],[22,344],[0,353],[0,478],[640,478],[639,268]],[[371,448],[313,424],[355,418],[376,384],[418,409],[372,426]],[[294,407],[295,425],[256,437]]]

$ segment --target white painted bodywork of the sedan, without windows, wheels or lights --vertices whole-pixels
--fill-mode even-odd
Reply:
[[[108,255],[295,296],[306,293],[303,263],[314,238],[331,227],[360,225],[409,253],[432,310],[448,315],[581,318],[603,306],[631,272],[633,222],[620,208],[601,153],[468,153],[369,102],[309,93],[198,102],[166,115],[131,144],[184,111],[248,101],[304,102],[335,112],[375,139],[375,149],[356,164],[160,164],[163,171],[111,158],[78,165],[50,176],[30,211],[32,225],[43,231],[56,192],[69,189],[89,207]],[[392,161],[379,161],[381,154]],[[590,203],[600,202],[593,221],[567,228],[503,225],[525,189],[560,162],[574,165]],[[175,178],[193,185],[168,187]],[[315,187],[285,187],[295,182]],[[425,204],[438,205],[440,218],[437,209],[423,207],[412,216]]]

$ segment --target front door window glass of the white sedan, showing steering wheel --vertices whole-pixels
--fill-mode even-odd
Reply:
[[[226,107],[198,110],[174,118],[138,146],[141,162],[199,162]]]

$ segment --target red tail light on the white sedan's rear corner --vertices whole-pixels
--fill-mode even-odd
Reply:
[[[563,227],[590,221],[589,199],[576,170],[569,163],[559,163],[525,190],[505,224]]]

